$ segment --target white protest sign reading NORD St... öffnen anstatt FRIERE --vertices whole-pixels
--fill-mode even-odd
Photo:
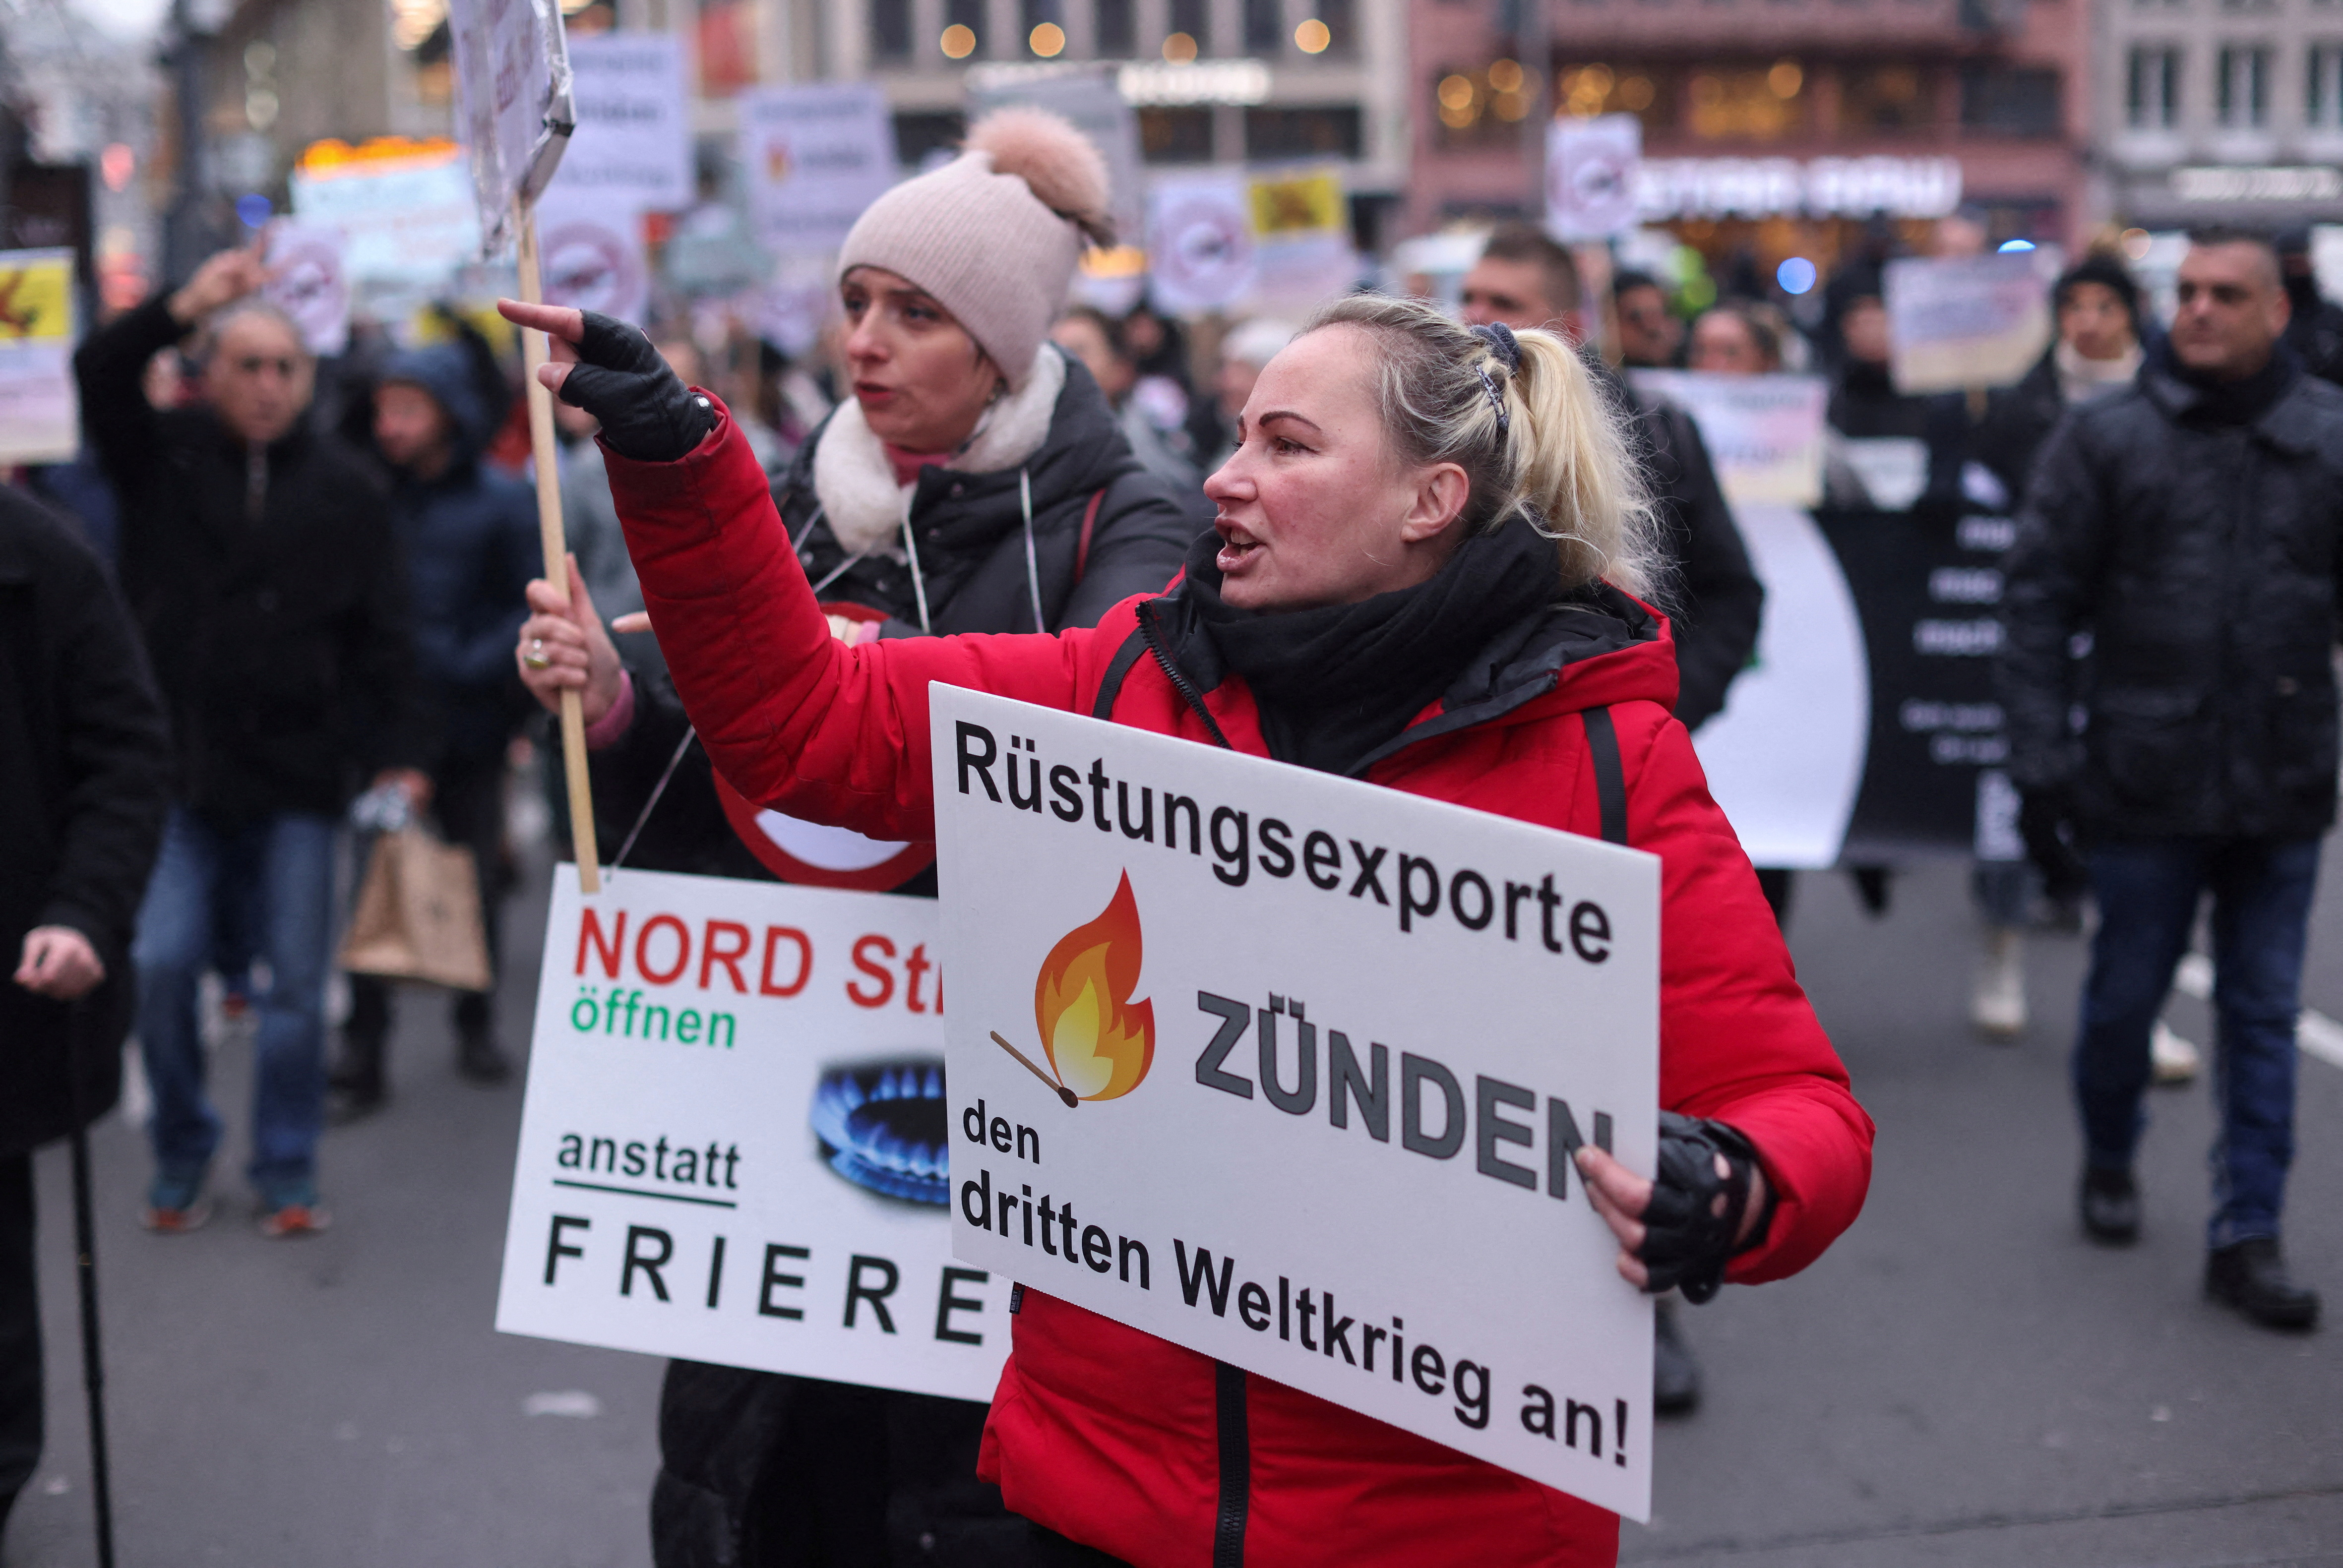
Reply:
[[[991,1399],[1010,1282],[951,1261],[937,909],[553,879],[497,1329]]]

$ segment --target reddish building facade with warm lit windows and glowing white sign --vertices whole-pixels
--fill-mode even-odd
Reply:
[[[1544,16],[1521,5],[1542,2]],[[1928,244],[2071,241],[2092,0],[1418,0],[1408,223],[1535,216],[1528,127],[1642,122],[1642,218],[1713,260],[1830,263],[1886,216]],[[1544,30],[1544,59],[1537,33]]]

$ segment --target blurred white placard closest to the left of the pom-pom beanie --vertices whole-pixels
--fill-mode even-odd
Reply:
[[[743,91],[750,223],[776,255],[827,255],[895,183],[895,127],[869,82]]]

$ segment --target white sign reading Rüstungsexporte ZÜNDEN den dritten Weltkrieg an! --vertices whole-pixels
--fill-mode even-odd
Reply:
[[[954,1254],[1645,1519],[1652,1303],[1570,1151],[1652,1170],[1659,860],[930,703]]]

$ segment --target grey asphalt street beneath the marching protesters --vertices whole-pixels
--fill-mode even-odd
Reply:
[[[2306,998],[2343,1017],[2343,879]],[[508,907],[504,1036],[522,1045],[544,872]],[[1966,872],[1903,874],[1872,921],[1802,877],[1792,947],[1879,1123],[1858,1226],[1806,1275],[1685,1324],[1708,1402],[1666,1423],[1628,1563],[2179,1568],[2343,1563],[2336,1334],[2252,1329],[2200,1296],[2205,1085],[2156,1095],[2139,1247],[2074,1219],[2064,1052],[2076,938],[2031,945],[2034,1027],[1966,1027]],[[2207,1010],[2167,1015],[2209,1041]],[[328,1134],[335,1228],[260,1240],[136,1226],[143,1139],[94,1132],[119,1561],[127,1568],[642,1568],[658,1362],[492,1331],[520,1088],[457,1080],[445,1001],[401,998],[396,1099]],[[216,1078],[241,1160],[244,1052]],[[2343,1315],[2343,1069],[2301,1071],[2296,1270]],[[232,1163],[223,1158],[223,1172]],[[49,1453],[5,1568],[82,1568],[89,1460],[68,1165],[40,1158]],[[223,1184],[237,1195],[237,1184]]]

